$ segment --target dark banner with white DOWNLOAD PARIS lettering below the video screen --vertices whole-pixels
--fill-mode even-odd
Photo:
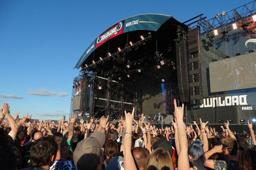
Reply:
[[[192,105],[188,109],[187,122],[199,120],[202,118],[209,123],[218,123],[219,120],[227,122],[233,120],[238,123],[239,120],[251,120],[256,118],[256,89],[237,90],[236,93],[225,95],[209,96],[203,99],[202,105]]]

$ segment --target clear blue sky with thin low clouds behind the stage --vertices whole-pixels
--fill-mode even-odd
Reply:
[[[251,1],[0,1],[0,103],[12,115],[68,117],[73,69],[101,32],[129,16],[160,13],[180,22]]]

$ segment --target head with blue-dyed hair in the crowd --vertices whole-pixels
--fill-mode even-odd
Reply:
[[[205,157],[201,141],[194,141],[188,146],[188,156],[190,162],[196,167],[204,166]]]

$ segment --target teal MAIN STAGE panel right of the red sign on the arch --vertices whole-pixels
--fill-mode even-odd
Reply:
[[[169,15],[159,14],[135,15],[125,19],[124,33],[137,30],[157,31],[170,18]]]

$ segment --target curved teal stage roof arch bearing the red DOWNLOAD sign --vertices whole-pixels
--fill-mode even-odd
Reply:
[[[122,37],[120,35],[126,35],[127,33],[131,34],[131,32],[138,32],[138,31],[156,32],[159,28],[161,28],[165,24],[166,24],[166,29],[169,28],[169,30],[172,31],[173,35],[176,35],[176,32],[170,29],[170,27],[177,28],[177,25],[181,25],[181,23],[175,20],[172,16],[163,15],[163,14],[140,14],[140,15],[134,15],[134,16],[131,16],[130,18],[126,18],[122,21],[119,21],[114,25],[111,25],[111,27],[109,27],[107,30],[102,32],[95,40],[92,41],[89,47],[86,48],[83,55],[79,58],[74,68],[78,69],[86,61],[86,59],[89,58],[90,55],[92,55],[94,51],[106,50],[106,48],[102,47],[101,49],[99,47],[105,44],[110,39],[113,39],[114,37],[118,38],[118,37]],[[122,38],[123,39],[125,38],[126,40],[126,37],[122,37]],[[111,47],[109,47],[108,45],[108,48],[105,51],[105,53],[108,53],[110,51],[110,48]]]

